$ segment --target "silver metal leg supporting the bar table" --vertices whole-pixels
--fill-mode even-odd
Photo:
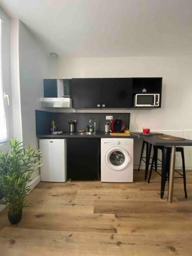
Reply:
[[[167,196],[167,201],[169,203],[172,203],[172,201],[173,201],[174,174],[175,174],[175,152],[176,152],[176,146],[172,146],[172,155],[170,157],[170,169],[169,169],[168,196]]]

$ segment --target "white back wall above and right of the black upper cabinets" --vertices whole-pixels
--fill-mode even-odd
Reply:
[[[162,108],[127,110],[131,130],[149,126],[154,131],[184,136],[192,130],[192,57],[58,58],[52,77],[163,77]],[[136,142],[135,165],[140,143]],[[190,154],[192,157],[192,154]],[[188,161],[189,162],[189,161]],[[191,161],[190,161],[191,162]],[[189,163],[188,163],[189,164]],[[190,163],[191,167],[192,163]]]

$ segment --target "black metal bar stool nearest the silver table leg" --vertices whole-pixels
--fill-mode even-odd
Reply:
[[[162,169],[161,169],[161,173],[159,173],[157,171],[156,167],[154,169],[154,163],[157,159],[158,150],[162,151],[162,161],[161,161],[162,162]],[[175,170],[175,172],[180,175],[179,177],[175,177],[175,178],[183,178],[184,193],[185,193],[185,198],[187,198],[185,158],[184,158],[184,149],[183,149],[183,147],[176,147],[176,152],[181,153],[183,173],[181,174],[178,170]],[[170,147],[154,146],[154,154],[153,154],[152,164],[151,164],[151,168],[150,168],[150,175],[148,177],[148,183],[150,183],[150,180],[151,180],[152,170],[155,170],[155,172],[158,173],[161,176],[161,198],[163,198],[163,195],[164,195],[165,182],[169,178],[170,155],[171,155],[171,148]]]

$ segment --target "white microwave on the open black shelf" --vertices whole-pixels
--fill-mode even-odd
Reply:
[[[141,93],[134,96],[134,106],[159,106],[160,94]]]

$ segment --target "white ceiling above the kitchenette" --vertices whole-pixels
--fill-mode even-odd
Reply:
[[[192,0],[0,0],[46,51],[68,57],[192,53]]]

